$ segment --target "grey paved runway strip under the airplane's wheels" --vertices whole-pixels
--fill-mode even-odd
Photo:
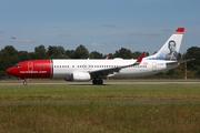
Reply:
[[[153,82],[151,82],[151,81],[149,81],[149,82],[130,82],[130,81],[128,81],[128,82],[126,82],[126,81],[117,81],[117,82],[114,82],[114,81],[112,81],[112,82],[109,82],[109,81],[106,81],[104,83],[103,83],[103,85],[114,85],[114,84],[117,84],[117,85],[133,85],[133,84],[199,84],[200,85],[200,82],[178,82],[178,81],[174,81],[174,82],[171,82],[171,81],[167,81],[167,82],[156,82],[156,81],[153,81]],[[23,83],[22,82],[0,82],[0,86],[2,86],[2,85],[23,85]],[[28,84],[27,85],[93,85],[91,82],[28,82]]]

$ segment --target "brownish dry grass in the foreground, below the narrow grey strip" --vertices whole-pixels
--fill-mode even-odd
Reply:
[[[0,105],[1,133],[200,132],[200,104]]]

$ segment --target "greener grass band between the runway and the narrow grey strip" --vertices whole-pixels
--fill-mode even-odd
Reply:
[[[0,86],[0,100],[199,100],[198,84]]]

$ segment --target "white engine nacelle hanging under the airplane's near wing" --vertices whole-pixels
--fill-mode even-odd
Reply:
[[[88,72],[73,72],[67,81],[89,81],[91,80],[90,73]]]

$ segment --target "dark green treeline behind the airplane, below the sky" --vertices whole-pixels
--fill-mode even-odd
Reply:
[[[141,54],[140,51],[130,51],[126,48],[117,50],[114,53],[102,54],[98,51],[89,52],[88,49],[80,44],[76,50],[64,50],[63,47],[59,45],[39,45],[34,48],[34,52],[18,51],[13,45],[7,45],[0,50],[0,79],[6,79],[9,75],[6,70],[16,64],[19,61],[34,60],[34,59],[104,59],[109,55],[110,59],[122,58],[122,59],[137,59]],[[146,55],[149,55],[147,53]],[[196,59],[187,64],[189,78],[200,78],[200,48],[191,47],[186,53],[179,54],[180,60]],[[183,78],[184,76],[184,64],[179,65],[174,70],[170,70],[166,73],[159,73],[150,78]]]

